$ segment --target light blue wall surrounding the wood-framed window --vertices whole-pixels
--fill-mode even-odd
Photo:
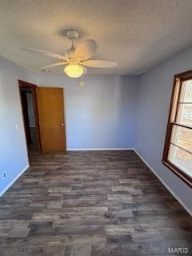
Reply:
[[[134,147],[192,210],[192,190],[161,162],[174,74],[192,70],[192,48],[142,74],[135,104]]]

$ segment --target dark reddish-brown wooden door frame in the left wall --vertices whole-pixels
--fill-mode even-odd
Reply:
[[[21,107],[22,107],[22,98],[21,98],[21,89],[22,89],[22,87],[30,88],[31,93],[32,93],[33,104],[34,104],[34,122],[35,122],[36,138],[37,138],[37,143],[38,143],[38,152],[42,153],[42,145],[41,145],[41,137],[40,137],[40,129],[39,129],[39,120],[38,120],[38,102],[37,102],[37,94],[36,94],[37,85],[34,85],[33,83],[22,81],[22,80],[18,79],[18,90],[19,90],[19,95],[20,95]],[[25,128],[23,110],[22,110],[22,122],[23,122],[23,126]],[[24,131],[25,131],[25,136],[26,136],[26,130],[24,129]],[[26,143],[26,148],[27,148],[27,143]],[[28,152],[28,148],[27,148],[27,152]]]

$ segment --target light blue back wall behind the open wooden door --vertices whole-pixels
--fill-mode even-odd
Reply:
[[[38,86],[62,86],[68,149],[133,147],[134,93],[138,78],[38,75]],[[86,144],[87,140],[87,144]]]

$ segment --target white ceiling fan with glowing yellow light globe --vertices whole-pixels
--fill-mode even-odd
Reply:
[[[71,40],[71,47],[70,49],[65,50],[62,55],[34,48],[24,48],[22,50],[61,59],[62,62],[43,66],[42,70],[48,70],[55,66],[65,65],[64,72],[70,78],[79,78],[80,76],[82,76],[82,74],[86,74],[86,66],[91,68],[110,68],[117,65],[116,62],[90,59],[96,52],[96,42],[92,39],[86,40],[79,44],[77,47],[75,47],[74,40],[77,40],[79,38],[79,33],[77,30],[66,30],[66,36]]]

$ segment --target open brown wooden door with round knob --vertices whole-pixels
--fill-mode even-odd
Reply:
[[[66,153],[63,89],[37,87],[42,153]]]

